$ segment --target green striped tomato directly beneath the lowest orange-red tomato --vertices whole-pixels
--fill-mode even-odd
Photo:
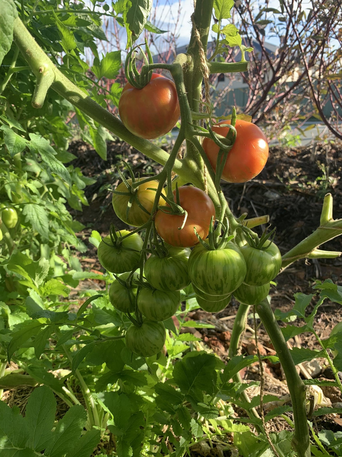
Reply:
[[[166,257],[151,255],[145,262],[145,278],[159,290],[176,291],[190,284],[187,262],[190,249],[179,249],[167,246]]]

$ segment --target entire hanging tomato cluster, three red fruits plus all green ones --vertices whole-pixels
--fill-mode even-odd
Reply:
[[[127,83],[120,97],[119,115],[124,126],[140,138],[153,139],[166,134],[180,116],[175,84],[159,74],[152,74],[142,89]],[[220,126],[221,123],[212,131],[226,137],[229,128]],[[269,148],[264,133],[256,125],[238,119],[235,129],[235,143],[228,153],[222,178],[245,182],[264,168]],[[215,170],[219,146],[205,138],[202,147]],[[138,187],[132,184],[132,179],[124,180],[115,189],[114,211],[124,223],[143,227],[150,218],[159,183],[147,181]],[[164,190],[161,193],[165,197]],[[109,300],[133,321],[125,335],[126,345],[140,356],[149,357],[161,351],[166,339],[163,321],[179,308],[181,290],[194,292],[204,310],[217,313],[228,305],[232,293],[241,303],[259,303],[266,298],[269,282],[280,270],[280,252],[273,243],[261,249],[247,243],[238,247],[232,241],[222,241],[218,249],[212,245],[209,248],[208,244],[207,249],[205,243],[199,243],[199,237],[207,239],[215,218],[212,200],[201,189],[182,186],[177,195],[174,192],[174,200],[183,213],[168,212],[168,205],[160,197],[159,207],[164,205],[164,208],[156,211],[154,228],[162,244],[157,242],[156,246],[154,238],[148,258],[146,252],[141,254],[144,243],[137,232],[111,233],[98,246],[101,265],[115,275]],[[135,270],[142,268],[140,262],[144,257],[141,277]],[[136,308],[143,316],[140,325],[130,315]]]

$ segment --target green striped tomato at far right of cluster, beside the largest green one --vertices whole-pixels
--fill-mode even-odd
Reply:
[[[272,281],[279,273],[281,254],[274,243],[271,243],[266,250],[253,248],[249,244],[241,246],[240,250],[247,266],[247,273],[244,278],[245,284],[263,286]]]

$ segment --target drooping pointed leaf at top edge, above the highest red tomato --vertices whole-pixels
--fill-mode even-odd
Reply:
[[[124,24],[127,32],[126,49],[133,45],[144,30],[151,7],[151,0],[124,0]]]

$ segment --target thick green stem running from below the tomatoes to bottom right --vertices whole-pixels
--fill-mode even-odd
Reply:
[[[298,457],[310,457],[310,436],[306,418],[306,387],[295,368],[290,350],[267,299],[256,305],[256,310],[277,352],[290,391],[295,423],[293,445]]]

